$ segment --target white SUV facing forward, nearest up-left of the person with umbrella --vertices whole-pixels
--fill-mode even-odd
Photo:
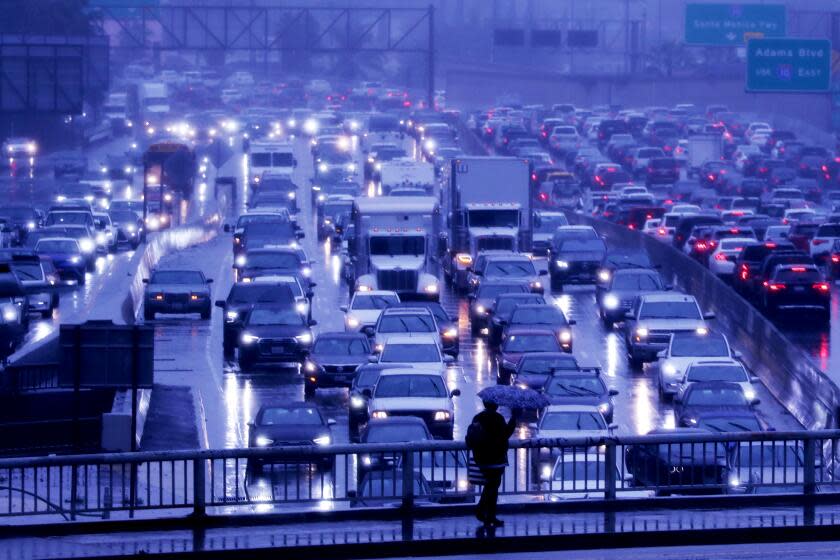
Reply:
[[[371,392],[368,416],[372,419],[417,416],[435,438],[452,439],[455,428],[452,398],[460,394],[458,389],[450,391],[441,372],[435,369],[386,369],[379,374]]]

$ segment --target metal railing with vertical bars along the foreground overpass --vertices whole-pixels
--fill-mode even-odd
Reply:
[[[838,493],[840,430],[512,440],[503,502],[672,494]],[[20,523],[473,502],[463,442],[303,445],[0,460],[0,516]],[[737,499],[737,498],[736,498]],[[748,497],[746,499],[749,499]],[[208,509],[211,510],[208,512]]]

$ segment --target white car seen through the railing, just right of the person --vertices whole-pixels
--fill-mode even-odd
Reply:
[[[633,476],[618,465],[607,465],[603,453],[573,451],[559,456],[554,466],[547,465],[540,473],[542,488],[549,501],[574,499],[603,499],[606,489],[606,469],[615,469],[616,494],[620,498],[652,498],[653,490],[633,487]]]

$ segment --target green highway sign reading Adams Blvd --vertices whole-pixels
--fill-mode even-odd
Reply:
[[[831,41],[750,39],[747,91],[819,92],[831,85]]]

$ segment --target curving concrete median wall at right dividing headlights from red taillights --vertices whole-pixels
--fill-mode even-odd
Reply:
[[[838,424],[840,389],[811,357],[773,323],[708,269],[671,245],[624,226],[568,213],[570,223],[593,226],[611,246],[645,249],[662,277],[697,298],[716,314],[716,322],[743,361],[770,393],[806,428]]]

